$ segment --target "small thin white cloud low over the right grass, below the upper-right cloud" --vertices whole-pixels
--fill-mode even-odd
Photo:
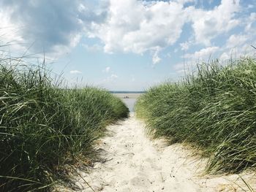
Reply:
[[[215,52],[219,50],[219,47],[206,47],[199,51],[196,51],[195,53],[187,53],[185,54],[185,58],[193,58],[193,59],[207,59],[210,58],[211,55],[213,55]]]

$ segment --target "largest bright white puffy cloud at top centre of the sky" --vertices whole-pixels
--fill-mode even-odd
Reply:
[[[132,11],[131,11],[132,10]],[[153,53],[173,45],[186,22],[183,5],[175,1],[110,0],[108,20],[92,25],[91,37],[104,42],[106,53]]]

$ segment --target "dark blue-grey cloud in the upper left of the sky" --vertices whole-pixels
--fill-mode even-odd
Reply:
[[[74,47],[91,21],[102,22],[107,12],[99,4],[81,0],[2,0],[0,21],[20,38],[18,43],[33,45],[34,50],[59,52]],[[100,11],[97,12],[97,8]],[[1,32],[1,31],[0,31]]]

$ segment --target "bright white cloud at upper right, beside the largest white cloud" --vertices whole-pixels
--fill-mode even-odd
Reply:
[[[237,26],[239,20],[235,18],[235,13],[239,9],[239,0],[222,0],[218,7],[208,11],[195,7],[187,9],[196,42],[211,45],[211,39]]]

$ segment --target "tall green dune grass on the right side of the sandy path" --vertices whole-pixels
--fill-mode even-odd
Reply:
[[[256,167],[256,60],[197,66],[181,82],[150,88],[135,106],[153,137],[186,142],[209,157],[207,171]],[[171,155],[171,154],[170,154]]]

